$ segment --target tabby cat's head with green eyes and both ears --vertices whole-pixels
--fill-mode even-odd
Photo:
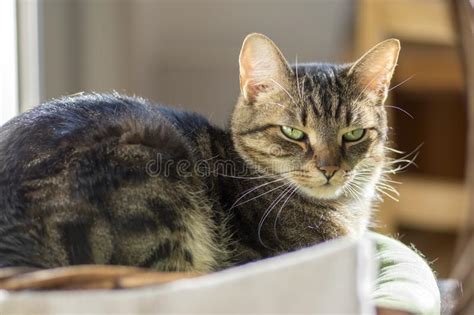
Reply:
[[[247,36],[231,121],[236,150],[311,197],[371,193],[384,165],[383,103],[399,50],[389,39],[352,64],[290,66],[269,38]]]

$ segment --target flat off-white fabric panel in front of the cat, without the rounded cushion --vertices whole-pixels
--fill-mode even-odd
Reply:
[[[339,239],[135,290],[0,293],[0,314],[374,314],[372,244]]]

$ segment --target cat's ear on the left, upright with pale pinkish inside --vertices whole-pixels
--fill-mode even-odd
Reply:
[[[292,73],[285,57],[262,34],[247,35],[239,56],[240,91],[247,101],[255,100],[258,93],[270,86],[285,87]]]

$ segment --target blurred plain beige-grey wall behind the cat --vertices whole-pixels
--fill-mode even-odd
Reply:
[[[270,36],[290,62],[340,61],[351,0],[45,0],[46,98],[118,90],[222,124],[239,92],[246,34]]]

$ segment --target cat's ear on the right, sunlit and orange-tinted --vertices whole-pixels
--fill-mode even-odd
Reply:
[[[357,60],[349,70],[349,75],[354,76],[356,84],[359,84],[363,93],[384,101],[397,65],[399,52],[400,41],[387,39],[375,45]]]

